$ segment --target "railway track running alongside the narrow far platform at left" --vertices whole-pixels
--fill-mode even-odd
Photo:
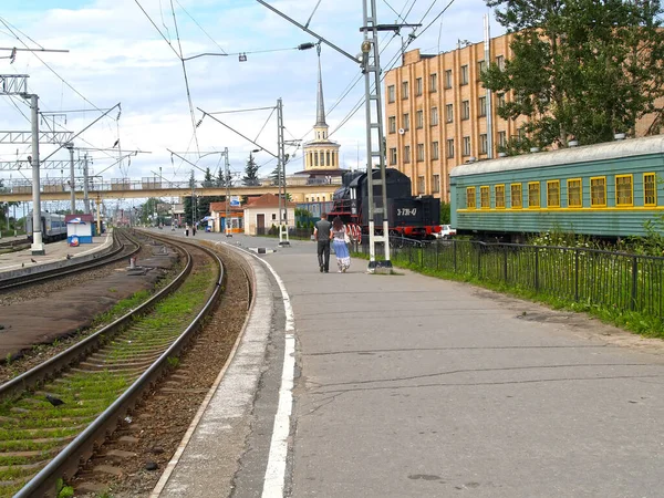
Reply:
[[[19,287],[30,286],[33,283],[41,283],[51,279],[58,279],[65,276],[80,273],[82,271],[89,271],[94,268],[111,264],[116,261],[128,258],[141,250],[141,243],[132,237],[126,230],[118,230],[113,232],[114,241],[113,249],[106,255],[100,256],[92,261],[83,262],[70,262],[61,268],[54,268],[51,270],[39,271],[32,274],[23,274],[18,277],[11,277],[0,280],[0,291],[17,289]]]

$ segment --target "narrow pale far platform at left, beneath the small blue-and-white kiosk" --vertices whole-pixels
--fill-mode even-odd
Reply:
[[[92,243],[81,243],[77,247],[69,246],[66,240],[46,243],[45,255],[43,256],[32,256],[30,248],[0,253],[0,279],[10,274],[13,277],[40,271],[44,267],[62,266],[70,260],[80,261],[81,258],[105,250],[112,243],[113,236],[111,231],[107,231],[98,237],[93,237]],[[71,258],[68,259],[68,255]]]

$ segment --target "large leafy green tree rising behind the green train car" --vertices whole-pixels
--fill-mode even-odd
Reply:
[[[485,0],[515,38],[505,66],[491,63],[486,87],[508,94],[498,115],[527,117],[502,152],[552,144],[567,147],[634,135],[654,114],[658,133],[664,96],[664,30],[660,0]]]

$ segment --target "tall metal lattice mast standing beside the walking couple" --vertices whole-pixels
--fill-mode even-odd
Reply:
[[[378,60],[378,29],[376,1],[364,0],[364,41],[362,42],[365,108],[366,108],[366,185],[369,190],[369,271],[392,268],[390,261],[390,226],[387,218],[387,183],[383,142],[383,106],[381,98],[381,63]],[[378,177],[374,175],[374,159],[378,163]],[[376,224],[382,230],[376,232]],[[376,261],[375,243],[382,242],[385,258]]]

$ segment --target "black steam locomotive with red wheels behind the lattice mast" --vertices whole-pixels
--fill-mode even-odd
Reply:
[[[373,178],[380,179],[381,172],[374,169]],[[433,196],[413,196],[411,178],[394,168],[385,169],[387,184],[387,222],[390,235],[414,239],[433,238],[440,230],[440,199]],[[353,237],[369,235],[369,186],[367,174],[361,172],[345,173],[342,187],[333,197],[330,219],[340,217],[351,228]],[[380,188],[374,190],[374,203],[382,205]],[[378,215],[375,230],[383,230],[383,219]]]

